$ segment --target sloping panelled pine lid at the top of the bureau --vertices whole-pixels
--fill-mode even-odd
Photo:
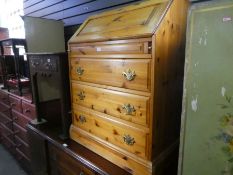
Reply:
[[[152,36],[171,2],[146,0],[92,16],[76,31],[69,43]]]

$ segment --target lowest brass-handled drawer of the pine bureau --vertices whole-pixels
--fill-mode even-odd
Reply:
[[[146,157],[147,135],[139,130],[103,118],[81,107],[73,110],[74,126],[140,157]]]

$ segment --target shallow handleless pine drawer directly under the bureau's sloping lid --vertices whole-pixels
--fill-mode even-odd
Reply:
[[[97,43],[96,45],[71,44],[70,51],[71,55],[144,54],[150,51],[149,44],[148,41],[116,44]]]

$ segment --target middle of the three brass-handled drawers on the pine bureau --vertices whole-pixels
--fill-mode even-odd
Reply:
[[[133,123],[147,125],[149,97],[72,83],[73,103]]]

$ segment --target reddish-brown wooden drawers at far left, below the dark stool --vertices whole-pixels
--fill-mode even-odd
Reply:
[[[35,118],[35,106],[29,100],[0,91],[1,143],[29,169],[30,152],[26,125]]]

